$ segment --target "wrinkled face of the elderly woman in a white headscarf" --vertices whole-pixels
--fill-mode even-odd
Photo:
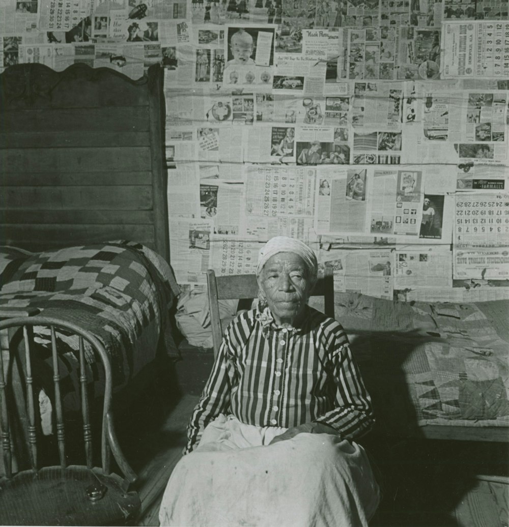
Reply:
[[[303,313],[312,285],[308,274],[304,260],[293,252],[279,252],[263,266],[258,287],[277,324],[293,325]]]

